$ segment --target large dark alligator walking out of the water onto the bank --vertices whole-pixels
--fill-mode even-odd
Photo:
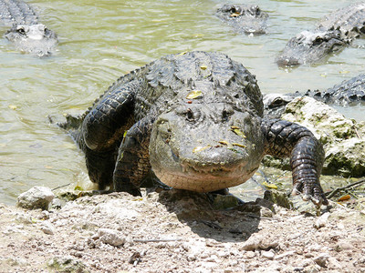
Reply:
[[[99,189],[141,196],[152,173],[164,185],[224,191],[267,155],[291,157],[292,194],[328,204],[319,184],[324,151],[304,126],[265,119],[255,76],[222,53],[163,56],[121,76],[82,116],[59,126],[85,153]]]

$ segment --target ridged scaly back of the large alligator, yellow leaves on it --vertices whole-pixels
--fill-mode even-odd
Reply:
[[[157,116],[177,105],[216,102],[263,115],[255,76],[224,54],[198,51],[164,56],[147,68],[144,86],[137,94],[137,119],[151,111]]]

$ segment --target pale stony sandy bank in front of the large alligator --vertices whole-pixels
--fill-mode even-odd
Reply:
[[[365,272],[363,211],[214,204],[170,190],[49,211],[1,205],[0,272]]]

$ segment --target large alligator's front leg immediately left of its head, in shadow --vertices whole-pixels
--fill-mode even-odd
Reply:
[[[141,196],[141,180],[151,170],[149,145],[152,125],[153,118],[145,117],[125,134],[113,174],[115,191]]]

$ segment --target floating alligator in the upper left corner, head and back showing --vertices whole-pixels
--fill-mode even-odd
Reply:
[[[38,23],[34,10],[19,0],[0,0],[0,20],[11,28],[5,38],[16,49],[36,56],[49,56],[57,45],[57,35],[46,25]]]

